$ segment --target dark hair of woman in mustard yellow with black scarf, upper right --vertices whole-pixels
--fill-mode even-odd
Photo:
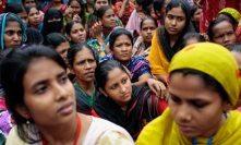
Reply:
[[[173,8],[181,7],[182,11],[185,14],[185,27],[183,28],[182,33],[185,33],[189,28],[190,21],[191,21],[191,8],[190,4],[185,0],[171,0],[166,7],[166,13],[168,13]]]

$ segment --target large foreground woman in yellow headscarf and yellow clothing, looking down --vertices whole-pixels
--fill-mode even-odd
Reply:
[[[136,144],[241,144],[241,113],[229,110],[239,98],[239,78],[222,46],[188,46],[170,63],[169,109],[143,129]]]

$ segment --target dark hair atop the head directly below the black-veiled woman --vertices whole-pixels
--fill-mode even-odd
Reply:
[[[45,45],[56,49],[59,45],[65,41],[68,41],[68,39],[61,33],[50,33],[46,36]]]

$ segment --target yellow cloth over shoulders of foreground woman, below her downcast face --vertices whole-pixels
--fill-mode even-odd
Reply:
[[[196,138],[197,144],[207,145],[208,138]],[[170,116],[170,109],[148,123],[141,132],[136,145],[191,145],[192,140],[182,135]],[[228,112],[228,118],[213,136],[212,145],[241,145],[241,113]]]

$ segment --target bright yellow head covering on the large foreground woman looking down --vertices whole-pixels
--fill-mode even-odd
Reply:
[[[214,77],[227,92],[229,100],[234,106],[239,98],[238,64],[225,47],[200,43],[185,47],[171,60],[169,72],[179,69],[193,69]]]

